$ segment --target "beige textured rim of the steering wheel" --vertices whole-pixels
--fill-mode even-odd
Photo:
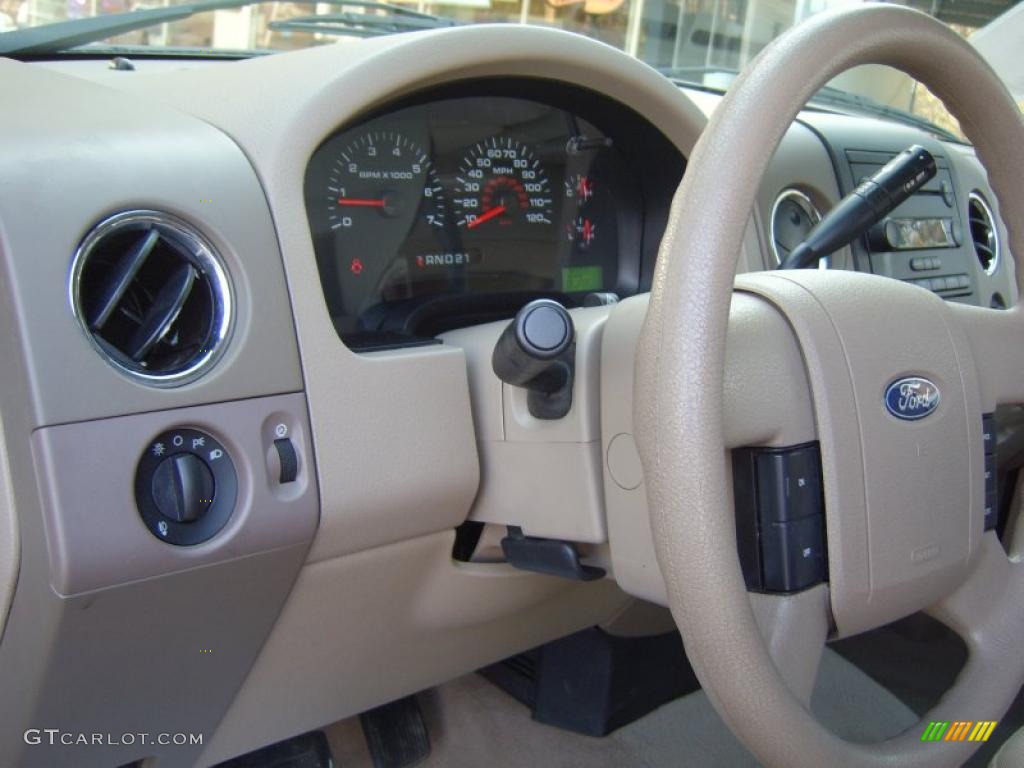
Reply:
[[[726,259],[710,261],[706,256],[739,253],[757,182],[800,106],[840,72],[868,62],[902,69],[943,98],[978,147],[1009,222],[1013,251],[1024,252],[1024,229],[1018,226],[1024,221],[1019,153],[1024,126],[988,66],[952,31],[916,11],[865,5],[826,12],[762,52],[733,85],[690,157],[663,242],[637,357],[638,445],[670,604],[712,702],[768,766],[952,766],[963,763],[976,746],[923,749],[920,732],[912,730],[882,744],[860,745],[825,731],[770,659],[737,567],[735,535],[727,513],[731,499],[721,460],[726,444],[723,372],[734,269]],[[804,76],[794,77],[795,72]],[[757,131],[752,130],[754,125]],[[699,209],[694,201],[699,201]],[[719,215],[709,218],[705,214],[709,207]],[[847,284],[849,296],[831,296],[820,304],[847,310],[847,332],[852,328],[849,313],[862,298],[861,287],[866,288],[857,279],[865,276],[837,274],[836,286]],[[811,281],[802,276],[799,283],[813,299],[816,288]],[[881,308],[867,302],[865,306],[871,312],[900,311],[899,305]],[[966,338],[977,337],[966,324],[963,330],[954,327],[958,314],[954,310],[943,314],[957,365],[966,374],[962,384],[966,396],[953,411],[980,419],[985,398],[972,380],[975,359],[970,353],[959,356]],[[973,313],[964,316],[969,314]],[[999,315],[991,324],[1004,330],[1004,340],[1010,341],[1010,330],[1016,330],[1008,356],[1019,359],[1024,338],[1020,310],[984,316],[991,314]],[[930,333],[937,339],[942,328]],[[986,355],[978,360],[979,373],[992,359]],[[812,370],[814,365],[809,361]],[[856,377],[858,371],[850,373]],[[1020,380],[1021,370],[1014,375]],[[996,399],[1012,392],[998,380],[989,386]],[[833,416],[838,421],[849,419],[839,412]],[[953,434],[951,428],[948,434]],[[967,434],[973,437],[974,427],[969,425]],[[971,451],[963,460],[974,478],[980,463],[973,453],[976,449]],[[975,496],[972,510],[980,503]],[[975,524],[972,528],[980,534]],[[1024,568],[1006,557],[992,535],[972,543],[974,547],[964,586],[933,607],[936,615],[964,635],[970,660],[954,688],[927,718],[998,719],[1024,678],[1024,659],[1018,652],[1024,635],[1019,599]],[[835,568],[831,550],[829,558]],[[858,564],[839,566],[845,574],[845,568]]]

